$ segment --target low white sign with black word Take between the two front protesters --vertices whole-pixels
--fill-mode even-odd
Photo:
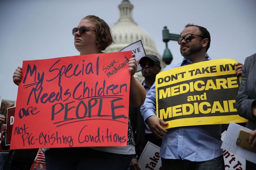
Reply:
[[[159,151],[160,147],[149,141],[147,142],[138,160],[141,170],[162,170]]]

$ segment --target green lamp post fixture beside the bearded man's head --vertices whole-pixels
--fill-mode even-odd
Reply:
[[[181,34],[170,34],[169,30],[167,29],[167,27],[163,27],[162,30],[162,37],[163,37],[163,42],[165,42],[165,51],[163,52],[163,56],[162,56],[162,60],[163,62],[165,62],[165,64],[170,64],[172,62],[172,53],[171,51],[168,49],[168,41],[169,40],[174,40],[177,41],[177,39],[181,36]]]

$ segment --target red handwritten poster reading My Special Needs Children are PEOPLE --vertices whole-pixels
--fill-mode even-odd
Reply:
[[[131,51],[23,62],[11,149],[127,144]]]

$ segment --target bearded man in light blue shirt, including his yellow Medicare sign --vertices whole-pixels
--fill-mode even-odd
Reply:
[[[246,121],[234,105],[242,64],[210,61],[205,56],[210,41],[207,29],[187,24],[178,38],[182,63],[167,66],[157,75],[141,107],[144,121],[163,139],[163,170],[224,170],[220,124],[230,119]]]

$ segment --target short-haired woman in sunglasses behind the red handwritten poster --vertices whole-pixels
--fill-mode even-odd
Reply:
[[[74,45],[80,55],[102,53],[113,43],[108,24],[99,17],[84,17],[77,28],[72,30]],[[140,106],[145,100],[145,89],[139,82],[137,62],[132,55],[129,59],[130,100],[132,107]],[[13,82],[22,80],[22,68],[18,67]],[[51,148],[45,151],[47,170],[51,169],[127,169],[135,154],[134,140],[129,122],[127,145],[122,147]]]

